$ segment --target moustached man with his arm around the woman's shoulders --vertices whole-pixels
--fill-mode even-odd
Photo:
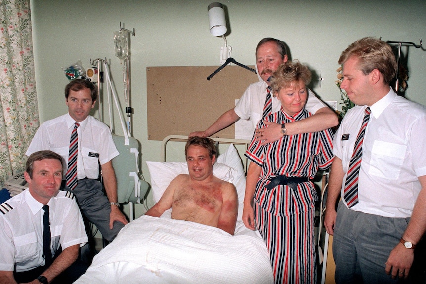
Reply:
[[[262,39],[257,44],[256,48],[257,71],[262,81],[251,84],[246,89],[237,105],[222,114],[209,128],[201,132],[192,132],[189,136],[209,137],[237,122],[240,118],[244,120],[250,119],[254,131],[257,122],[262,119],[267,87],[270,85],[268,79],[277,70],[278,66],[285,63],[287,60],[286,45],[283,41],[273,38]],[[272,96],[271,113],[279,111],[280,108],[280,102],[275,96]],[[338,124],[336,114],[315,97],[311,91],[309,91],[306,109],[314,115],[301,121],[286,123],[285,126],[266,122],[268,127],[257,130],[257,139],[262,140],[263,143],[270,143],[278,140],[283,135],[317,132],[334,127]],[[284,130],[282,128],[284,128]]]

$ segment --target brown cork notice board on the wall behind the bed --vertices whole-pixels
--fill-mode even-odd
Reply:
[[[204,131],[235,106],[257,74],[228,65],[207,80],[219,66],[147,67],[148,139]],[[234,138],[234,125],[214,137]]]

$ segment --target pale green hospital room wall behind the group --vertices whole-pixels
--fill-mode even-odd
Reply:
[[[161,143],[147,139],[146,67],[220,65],[224,41],[209,33],[207,6],[211,2],[31,0],[41,122],[67,111],[63,90],[68,79],[61,67],[78,59],[87,69],[91,67],[90,59],[107,58],[124,107],[122,65],[114,56],[113,32],[119,30],[120,22],[127,29],[135,28],[136,35],[131,37],[133,135],[142,144],[142,171],[149,181],[145,161],[160,160]],[[322,75],[321,87],[316,85],[313,90],[323,100],[339,101],[337,60],[353,41],[365,36],[382,37],[384,41],[426,41],[425,0],[221,2],[229,17],[227,41],[232,46],[232,57],[255,65],[257,42],[264,37],[281,39],[290,47],[293,59],[307,63]],[[426,43],[423,50],[402,48],[408,57],[410,76],[406,97],[424,105],[425,49]],[[93,115],[98,117],[97,112]],[[121,134],[117,127],[119,124],[116,132]],[[175,151],[180,154],[181,149]],[[144,212],[142,205],[136,207],[137,215]]]

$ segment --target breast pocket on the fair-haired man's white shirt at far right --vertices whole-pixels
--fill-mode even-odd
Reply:
[[[404,162],[407,146],[385,141],[374,141],[371,149],[369,174],[397,180]]]

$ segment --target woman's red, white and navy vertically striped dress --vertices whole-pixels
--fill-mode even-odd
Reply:
[[[281,124],[311,115],[304,108],[294,116],[281,109],[265,120]],[[263,127],[260,121],[256,128]],[[269,250],[275,283],[316,283],[314,207],[318,194],[311,181],[298,183],[297,191],[287,185],[267,190],[265,185],[277,175],[314,178],[318,168],[331,165],[332,144],[333,132],[327,129],[284,136],[264,146],[252,139],[245,153],[262,168],[254,194],[255,220]]]

